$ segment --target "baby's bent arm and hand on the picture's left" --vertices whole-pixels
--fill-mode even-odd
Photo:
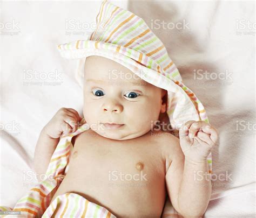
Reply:
[[[55,116],[42,129],[35,149],[33,167],[39,175],[46,172],[51,156],[59,142],[62,133],[71,133],[77,130],[80,121],[78,112],[72,108],[60,108]],[[41,177],[38,177],[39,180]],[[43,177],[44,178],[44,177]]]

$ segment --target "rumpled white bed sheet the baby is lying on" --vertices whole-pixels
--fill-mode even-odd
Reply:
[[[152,28],[165,44],[184,83],[204,104],[210,122],[219,130],[213,149],[213,173],[226,171],[231,180],[213,181],[205,217],[255,215],[255,3],[245,1],[111,1],[128,9]],[[93,31],[101,1],[1,2],[0,22],[15,22],[1,29],[1,195],[0,205],[15,203],[35,185],[29,181],[39,132],[61,107],[82,115],[82,89],[74,78],[77,61],[66,61],[56,46],[83,39]],[[75,25],[66,29],[66,20]],[[183,23],[184,29],[157,30],[158,23]],[[239,22],[251,22],[238,25]],[[242,22],[242,23],[245,23]],[[18,24],[17,24],[18,23]],[[172,24],[170,24],[171,27]],[[238,25],[238,29],[237,29]],[[3,25],[2,25],[3,26]],[[0,26],[1,27],[1,26]],[[7,26],[8,27],[8,26]],[[163,27],[163,26],[162,26]],[[250,34],[247,34],[250,33]],[[10,35],[12,34],[12,36]],[[29,70],[60,73],[57,80],[29,80]],[[194,70],[211,76],[227,72],[231,80],[194,79]],[[28,85],[28,82],[58,85]],[[206,85],[202,82],[212,82]],[[219,85],[216,83],[225,83]],[[215,83],[215,84],[214,84]],[[239,122],[254,128],[243,128]],[[168,207],[165,207],[165,214]]]

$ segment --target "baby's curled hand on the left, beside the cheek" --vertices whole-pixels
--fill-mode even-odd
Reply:
[[[76,110],[60,108],[43,130],[51,138],[59,138],[63,132],[64,134],[75,132],[81,119]]]

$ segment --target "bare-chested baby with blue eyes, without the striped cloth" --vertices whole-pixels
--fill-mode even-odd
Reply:
[[[167,91],[114,71],[133,75],[111,59],[86,58],[83,117],[90,129],[72,138],[69,170],[51,202],[71,192],[117,217],[160,217],[168,194],[182,216],[202,216],[211,180],[199,179],[197,172],[208,173],[217,130],[191,120],[178,139],[154,128],[166,112]],[[59,137],[75,132],[81,119],[75,109],[61,108],[44,126],[35,150],[37,173],[45,173]]]

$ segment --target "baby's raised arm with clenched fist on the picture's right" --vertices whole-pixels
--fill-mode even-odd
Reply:
[[[211,180],[207,177],[207,156],[218,137],[217,131],[212,126],[210,130],[206,129],[206,125],[202,121],[188,121],[184,125],[187,129],[181,128],[180,146],[177,141],[166,173],[172,205],[184,217],[201,217],[210,201],[212,189]],[[198,130],[201,131],[196,136]],[[192,139],[188,133],[192,134]]]

